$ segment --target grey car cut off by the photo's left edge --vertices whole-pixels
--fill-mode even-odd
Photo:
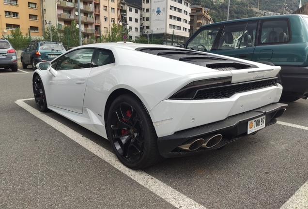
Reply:
[[[0,68],[7,70],[11,68],[13,72],[18,70],[16,51],[5,39],[0,39]]]

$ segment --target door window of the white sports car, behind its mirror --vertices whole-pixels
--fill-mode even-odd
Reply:
[[[72,70],[91,67],[94,49],[83,48],[69,52],[59,58],[55,70]]]

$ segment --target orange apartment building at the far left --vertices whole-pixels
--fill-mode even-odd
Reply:
[[[20,29],[25,35],[31,34],[32,40],[43,36],[41,0],[1,0],[0,7],[1,33],[3,37],[11,34],[11,30]]]

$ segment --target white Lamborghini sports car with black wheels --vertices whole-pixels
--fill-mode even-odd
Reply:
[[[132,169],[255,134],[287,106],[279,66],[174,46],[84,45],[37,68],[38,109],[108,138]]]

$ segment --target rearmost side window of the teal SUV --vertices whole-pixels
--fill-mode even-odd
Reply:
[[[290,27],[287,20],[266,20],[261,23],[259,43],[261,45],[289,42]]]

